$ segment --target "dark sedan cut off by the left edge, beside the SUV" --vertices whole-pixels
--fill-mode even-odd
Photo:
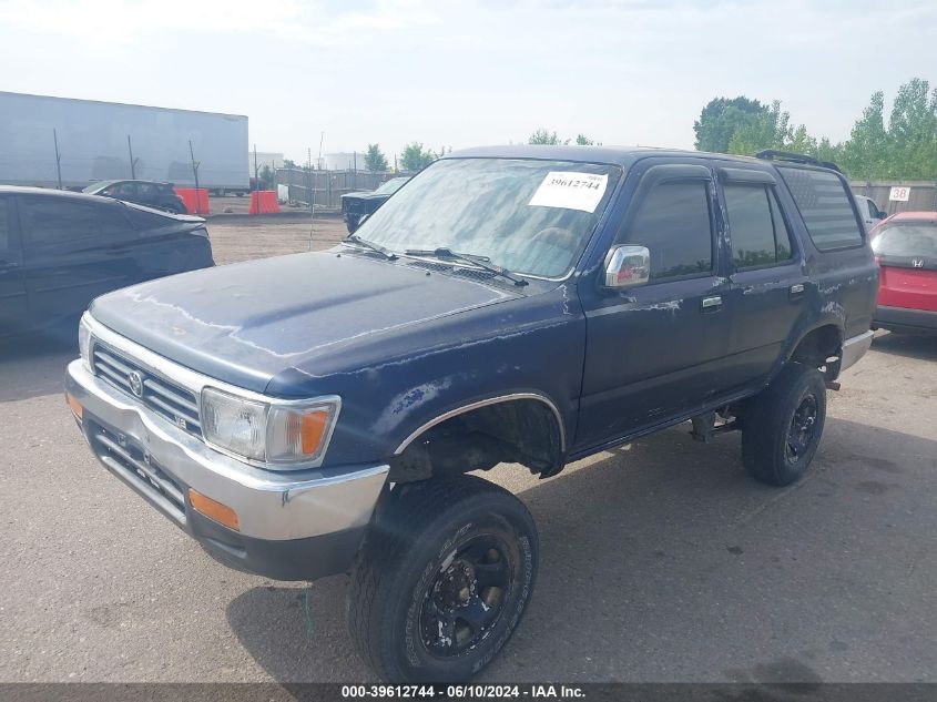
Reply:
[[[0,337],[78,319],[119,287],[211,265],[201,217],[0,186]]]

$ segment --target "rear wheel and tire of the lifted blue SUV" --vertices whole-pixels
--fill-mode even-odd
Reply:
[[[823,374],[787,365],[745,408],[742,462],[748,475],[774,486],[798,480],[816,454],[825,421]]]

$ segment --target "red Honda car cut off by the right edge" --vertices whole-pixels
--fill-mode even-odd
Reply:
[[[873,327],[937,334],[937,212],[902,212],[870,236],[880,268]]]

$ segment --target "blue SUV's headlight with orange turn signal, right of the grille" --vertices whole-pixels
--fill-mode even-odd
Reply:
[[[339,399],[277,403],[202,390],[205,440],[273,467],[305,467],[320,461],[338,418]]]

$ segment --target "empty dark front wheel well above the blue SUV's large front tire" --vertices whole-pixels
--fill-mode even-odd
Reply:
[[[562,429],[539,399],[512,399],[449,417],[416,437],[390,460],[391,482],[490,470],[498,464],[527,466],[546,478],[563,467]]]

